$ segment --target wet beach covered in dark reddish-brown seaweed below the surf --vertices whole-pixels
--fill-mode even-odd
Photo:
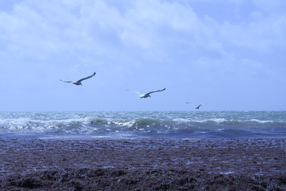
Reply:
[[[2,190],[286,190],[285,139],[0,138]]]

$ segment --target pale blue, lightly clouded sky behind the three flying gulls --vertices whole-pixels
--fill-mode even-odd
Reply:
[[[285,0],[0,0],[0,111],[285,111],[285,10]],[[60,81],[93,72],[82,86]]]

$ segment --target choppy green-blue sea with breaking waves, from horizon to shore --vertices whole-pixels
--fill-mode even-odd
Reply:
[[[0,137],[284,138],[286,111],[0,112]]]

